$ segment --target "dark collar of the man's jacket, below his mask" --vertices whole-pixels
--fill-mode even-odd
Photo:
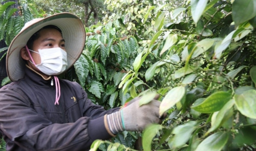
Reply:
[[[49,76],[49,78],[46,79],[40,73],[36,72],[28,65],[26,65],[26,67],[25,67],[24,78],[29,83],[32,83],[32,84],[40,86],[40,87],[51,86],[52,76]]]

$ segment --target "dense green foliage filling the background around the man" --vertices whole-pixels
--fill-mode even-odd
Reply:
[[[139,136],[145,151],[256,148],[256,0],[105,5],[104,22],[86,28],[83,54],[61,77],[78,81],[105,109],[137,96],[147,103],[154,96],[145,94],[159,93],[160,114],[168,117],[142,134],[125,131],[111,141],[97,140],[92,150],[134,150]],[[7,21],[8,7],[0,6]],[[26,22],[23,14],[20,24],[0,20],[7,45],[18,32],[15,25],[21,29]]]

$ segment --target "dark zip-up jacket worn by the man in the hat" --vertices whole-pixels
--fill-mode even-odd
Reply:
[[[51,79],[25,68],[23,79],[0,89],[0,132],[7,151],[84,151],[96,139],[111,138],[103,115],[119,108],[105,111],[67,80],[60,80],[61,97],[54,105]]]

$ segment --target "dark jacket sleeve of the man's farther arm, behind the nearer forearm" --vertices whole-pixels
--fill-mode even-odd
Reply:
[[[82,91],[82,100],[83,100],[83,113],[84,116],[90,117],[92,119],[102,117],[107,114],[111,114],[113,112],[119,111],[119,107],[105,110],[102,106],[96,105],[90,101],[87,97],[87,93],[81,88]]]

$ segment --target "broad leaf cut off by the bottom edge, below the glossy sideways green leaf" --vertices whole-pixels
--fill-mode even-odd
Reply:
[[[217,132],[203,140],[195,151],[221,151],[228,140],[227,132]]]

